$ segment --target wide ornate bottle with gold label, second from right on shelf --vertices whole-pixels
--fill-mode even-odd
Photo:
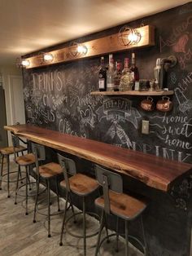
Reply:
[[[120,90],[132,90],[133,89],[133,74],[129,69],[129,58],[124,59],[124,69],[122,76],[120,77]]]

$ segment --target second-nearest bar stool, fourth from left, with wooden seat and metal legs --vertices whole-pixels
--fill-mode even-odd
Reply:
[[[89,176],[81,173],[76,173],[76,163],[72,159],[67,157],[63,157],[58,154],[59,163],[63,168],[64,180],[61,181],[60,186],[61,188],[66,190],[66,204],[65,210],[63,214],[63,223],[61,228],[61,236],[60,236],[60,243],[59,245],[63,245],[63,230],[64,224],[66,223],[66,211],[69,198],[71,199],[70,203],[72,204],[71,194],[74,193],[76,196],[80,196],[82,198],[82,214],[83,214],[83,236],[76,236],[82,237],[84,240],[84,255],[86,255],[86,224],[85,224],[85,198],[89,196],[92,192],[98,189],[98,183],[95,179],[90,178]],[[68,174],[71,176],[68,178]],[[72,209],[73,210],[73,209]],[[74,212],[73,212],[74,215]],[[70,217],[71,218],[71,217]],[[92,234],[91,236],[96,235],[98,232]],[[72,235],[72,233],[70,233]],[[73,235],[75,236],[75,235]],[[89,235],[90,236],[90,235]]]

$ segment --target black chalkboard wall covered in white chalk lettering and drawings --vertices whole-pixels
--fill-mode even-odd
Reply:
[[[168,88],[174,90],[170,113],[145,112],[139,107],[145,99],[141,96],[90,95],[98,90],[100,59],[95,57],[24,70],[26,121],[117,147],[192,163],[192,3],[129,25],[141,24],[155,26],[155,46],[134,51],[141,78],[154,77],[157,58],[177,57],[177,66],[168,71]],[[120,27],[81,38],[81,42],[117,33]],[[114,58],[123,62],[130,55],[131,51],[125,51],[114,54]],[[107,55],[105,62],[108,62]],[[155,103],[158,99],[154,97]],[[142,135],[142,120],[150,121],[150,135]],[[190,177],[186,177],[172,188],[174,203],[169,196],[153,191],[155,200],[146,217],[152,256],[190,254],[191,186]]]

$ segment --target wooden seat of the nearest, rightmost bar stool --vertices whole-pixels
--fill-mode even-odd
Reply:
[[[146,208],[144,200],[137,199],[124,193],[109,191],[111,214],[116,214],[120,218],[133,219],[138,213],[142,213]],[[104,208],[104,197],[100,196],[95,200],[98,207]]]

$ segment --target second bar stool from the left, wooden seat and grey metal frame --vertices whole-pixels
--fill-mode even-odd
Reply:
[[[24,154],[20,157],[17,157],[16,149],[20,145],[20,138],[14,134],[11,134],[13,150],[14,150],[14,161],[18,165],[19,171],[17,174],[17,182],[16,182],[16,189],[15,189],[15,205],[17,205],[17,195],[20,191],[20,188],[25,186],[25,215],[28,215],[28,185],[29,189],[31,189],[31,183],[29,179],[29,166],[32,166],[35,163],[35,156],[33,153]],[[21,167],[25,168],[25,183],[19,187],[19,179],[20,179],[20,169]]]

